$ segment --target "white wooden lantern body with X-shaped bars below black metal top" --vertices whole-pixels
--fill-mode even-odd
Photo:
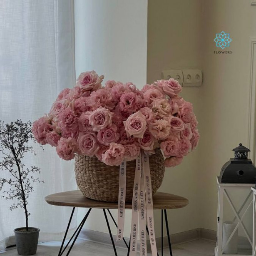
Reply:
[[[255,184],[218,184],[218,218],[215,256],[253,254],[253,191]]]

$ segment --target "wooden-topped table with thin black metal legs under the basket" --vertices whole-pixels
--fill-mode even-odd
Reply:
[[[94,201],[91,199],[86,198],[85,196],[82,195],[82,192],[80,190],[74,190],[74,191],[67,191],[67,192],[61,192],[61,193],[56,193],[52,194],[49,196],[45,197],[45,201],[47,201],[48,204],[56,205],[56,206],[70,206],[73,207],[72,213],[70,216],[70,220],[67,225],[67,230],[65,232],[62,245],[60,247],[60,251],[58,256],[61,256],[65,250],[67,249],[67,246],[70,244],[72,241],[72,244],[70,246],[70,249],[68,250],[66,255],[70,254],[70,251],[72,250],[72,247],[75,244],[75,241],[77,240],[78,235],[80,234],[80,231],[82,230],[82,227],[85,224],[85,221],[87,220],[91,210],[93,208],[100,208],[103,209],[104,217],[107,223],[107,228],[109,231],[109,236],[112,241],[113,249],[114,249],[114,254],[117,256],[117,250],[115,248],[114,244],[114,239],[112,236],[112,232],[109,226],[109,221],[107,217],[107,212],[109,213],[109,216],[111,217],[112,221],[114,222],[115,226],[117,227],[117,223],[114,220],[111,212],[109,209],[118,209],[118,203],[107,203],[107,202],[99,202],[99,201]],[[170,234],[169,234],[169,227],[168,227],[168,219],[167,219],[167,209],[178,209],[178,208],[183,208],[189,203],[188,199],[181,197],[181,196],[176,196],[173,194],[167,194],[163,192],[157,192],[153,196],[153,205],[154,209],[161,209],[162,213],[162,218],[161,218],[161,230],[162,230],[162,256],[163,256],[163,219],[165,219],[165,224],[166,224],[166,229],[167,229],[167,237],[168,237],[168,244],[169,244],[169,251],[170,255],[172,256],[172,251],[171,251],[171,241],[170,241]],[[84,219],[82,219],[81,223],[75,230],[74,234],[72,235],[71,239],[68,241],[67,245],[64,247],[64,242],[67,237],[67,232],[70,227],[70,223],[72,221],[72,217],[75,211],[76,207],[82,207],[82,208],[89,208],[87,213],[85,214]],[[132,209],[132,203],[126,203],[125,204],[125,209]],[[106,211],[107,210],[107,211]],[[164,218],[163,218],[164,215]],[[147,229],[148,232],[148,229]],[[127,242],[124,240],[125,245],[128,248],[128,254],[129,255],[129,249],[130,249],[130,244],[128,245]],[[158,254],[157,254],[158,255]]]

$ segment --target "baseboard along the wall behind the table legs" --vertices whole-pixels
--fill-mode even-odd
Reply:
[[[79,235],[79,238],[87,241],[99,243],[99,244],[108,244],[108,245],[112,244],[108,233],[103,233],[103,232],[89,230],[89,229],[83,229]],[[116,236],[113,235],[113,239],[115,241]],[[194,241],[197,239],[216,241],[216,231],[197,228],[197,229],[192,229],[192,230],[184,231],[177,234],[172,234],[171,244],[182,244],[182,243]],[[129,244],[129,238],[125,238],[125,241],[127,242],[127,244]],[[157,248],[161,248],[161,237],[158,237],[156,241],[157,241]],[[164,244],[164,248],[168,247],[167,236],[164,236],[163,244]],[[123,241],[119,241],[119,242],[115,241],[115,245],[119,248],[126,248],[126,245],[124,244]],[[147,248],[148,249],[150,248],[149,241],[147,241]]]

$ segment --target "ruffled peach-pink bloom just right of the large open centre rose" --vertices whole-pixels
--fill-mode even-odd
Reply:
[[[159,119],[154,120],[149,125],[149,132],[156,138],[156,139],[166,139],[170,134],[170,125],[167,120]]]

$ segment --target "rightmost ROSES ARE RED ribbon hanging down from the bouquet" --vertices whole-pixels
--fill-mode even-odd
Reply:
[[[146,192],[147,226],[149,229],[149,240],[150,240],[152,256],[157,256],[149,156],[145,154],[144,151],[142,152],[142,164],[143,164],[144,183],[145,183],[145,192]]]

